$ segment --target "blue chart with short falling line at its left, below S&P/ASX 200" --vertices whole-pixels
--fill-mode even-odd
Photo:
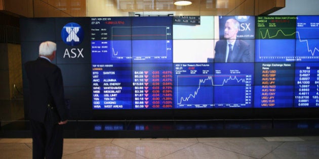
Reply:
[[[134,61],[145,61],[155,58],[170,60],[172,57],[173,42],[172,39],[169,39],[170,27],[112,27],[111,30],[113,58],[133,58]]]

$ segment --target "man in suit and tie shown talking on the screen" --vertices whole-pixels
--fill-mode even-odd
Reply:
[[[225,23],[224,38],[218,40],[215,46],[214,62],[253,62],[250,45],[241,39],[236,39],[240,23],[228,19]]]

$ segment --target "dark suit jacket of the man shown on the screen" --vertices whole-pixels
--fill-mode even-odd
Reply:
[[[226,59],[227,40],[218,40],[215,46],[214,62],[224,63]],[[253,62],[250,46],[247,42],[236,39],[229,62]]]

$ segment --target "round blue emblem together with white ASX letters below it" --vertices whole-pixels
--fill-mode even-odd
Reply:
[[[84,31],[81,25],[77,23],[68,23],[64,25],[61,30],[61,38],[64,43],[70,46],[76,46],[80,44],[84,37]],[[83,48],[71,48],[70,50],[65,48],[63,58],[84,58]]]

